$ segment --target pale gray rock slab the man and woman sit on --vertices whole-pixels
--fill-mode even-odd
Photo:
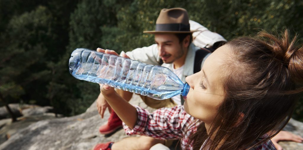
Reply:
[[[147,107],[138,95],[134,95],[131,104],[152,110]],[[98,132],[98,127],[106,123],[109,116],[101,119],[92,104],[85,113],[55,119],[41,120],[19,129],[7,141],[0,145],[3,150],[89,150],[100,142],[118,141],[127,137],[123,129],[105,136]],[[291,120],[285,130],[303,136],[303,123]],[[303,149],[302,143],[280,142],[286,150]]]

